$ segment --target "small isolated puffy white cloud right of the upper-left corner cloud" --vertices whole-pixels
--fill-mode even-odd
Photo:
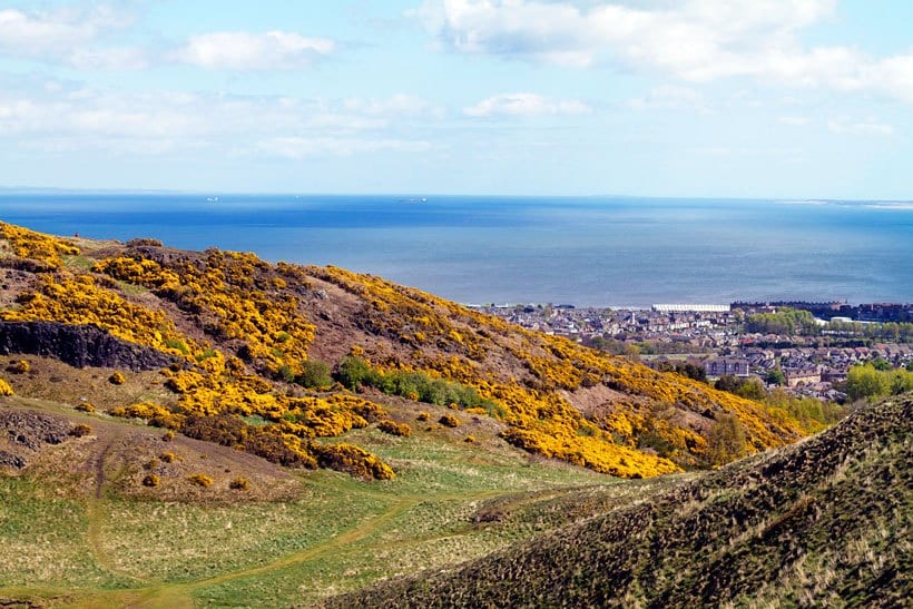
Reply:
[[[327,38],[285,31],[230,31],[193,36],[175,58],[212,69],[288,70],[310,66],[335,49],[336,43]]]

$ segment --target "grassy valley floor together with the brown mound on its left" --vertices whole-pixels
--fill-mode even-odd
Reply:
[[[68,435],[80,424],[89,425],[86,435]],[[48,430],[62,441],[24,450],[16,440]],[[27,458],[23,469],[0,465],[0,603],[306,605],[550,530],[565,514],[538,507],[569,493],[587,493],[595,510],[677,480],[628,483],[530,461],[495,445],[497,429],[475,432],[475,444],[350,432],[346,441],[399,472],[365,482],[288,470],[180,434],[165,439],[164,430],[66,404],[0,397],[0,453],[18,446]],[[150,473],[159,477],[155,488],[141,483]],[[196,474],[213,483],[198,485]],[[238,478],[245,489],[230,488]],[[493,509],[512,515],[499,521]]]

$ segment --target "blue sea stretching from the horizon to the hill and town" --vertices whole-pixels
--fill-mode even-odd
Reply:
[[[911,204],[10,191],[0,219],[333,264],[473,304],[913,302]]]

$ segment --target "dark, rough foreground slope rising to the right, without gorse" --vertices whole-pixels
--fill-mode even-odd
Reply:
[[[902,607],[913,396],[459,570],[324,607]]]

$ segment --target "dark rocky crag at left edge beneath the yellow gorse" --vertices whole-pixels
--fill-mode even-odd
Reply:
[[[59,322],[0,322],[0,354],[28,353],[55,357],[76,367],[131,371],[157,370],[176,358],[129,343],[94,325]]]

